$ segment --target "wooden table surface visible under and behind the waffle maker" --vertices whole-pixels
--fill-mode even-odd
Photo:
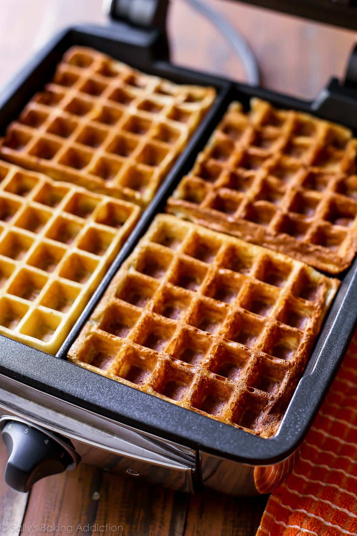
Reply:
[[[246,36],[260,64],[262,85],[313,98],[331,75],[344,72],[353,32],[239,3],[210,3]],[[78,22],[104,23],[101,0],[1,0],[0,87],[54,32]],[[245,80],[222,36],[183,0],[171,0],[169,33],[174,63]],[[0,478],[5,463],[0,444]],[[208,490],[189,496],[80,465],[38,482],[29,494],[1,482],[0,532],[66,534],[80,525],[78,532],[87,534],[250,536],[266,501],[264,496],[235,498]]]

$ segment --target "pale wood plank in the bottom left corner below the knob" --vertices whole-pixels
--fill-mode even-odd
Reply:
[[[16,492],[3,480],[8,455],[6,447],[0,441],[0,533],[6,536],[17,536],[24,518],[28,494]]]

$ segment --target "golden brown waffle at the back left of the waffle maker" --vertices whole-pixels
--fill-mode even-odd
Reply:
[[[73,47],[0,148],[5,160],[146,205],[215,99]],[[109,190],[109,192],[108,192]]]

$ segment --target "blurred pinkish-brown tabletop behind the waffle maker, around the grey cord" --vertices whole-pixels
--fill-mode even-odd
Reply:
[[[260,66],[262,85],[313,98],[332,75],[341,76],[355,33],[226,0],[206,0],[247,39]],[[172,59],[199,70],[246,81],[223,36],[182,0],[171,2]]]

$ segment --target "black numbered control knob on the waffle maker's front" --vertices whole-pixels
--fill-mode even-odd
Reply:
[[[0,419],[0,429],[9,453],[5,482],[19,492],[28,492],[37,480],[78,465],[79,456],[62,436],[10,416]]]

